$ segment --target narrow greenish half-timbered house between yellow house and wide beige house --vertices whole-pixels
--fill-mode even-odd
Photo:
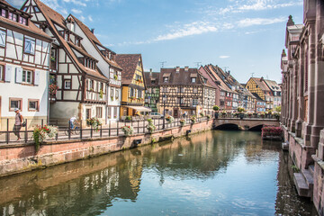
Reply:
[[[150,108],[152,112],[159,110],[159,73],[150,72],[144,73],[146,91],[145,91],[145,106]]]

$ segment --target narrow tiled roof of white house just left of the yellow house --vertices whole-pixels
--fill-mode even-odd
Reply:
[[[103,56],[103,53],[97,48],[97,44],[100,45],[101,47],[105,48],[103,46],[103,44],[101,44],[101,42],[95,37],[94,33],[92,31],[90,31],[90,29],[85,25],[85,23],[82,23],[80,20],[78,20],[74,15],[70,14],[70,16],[73,18],[73,20],[76,22],[76,24],[81,28],[82,31],[84,31],[86,37],[93,43],[95,49],[98,50],[98,52],[100,53],[100,55],[103,57],[103,59],[112,67],[117,67],[119,69],[121,69],[121,66],[119,66],[117,64],[117,62],[115,60],[111,60],[109,58],[106,58],[105,56]],[[106,49],[106,48],[105,48]],[[108,49],[110,50],[110,49]],[[112,50],[110,50],[112,51]],[[114,52],[112,52],[113,54],[115,54]]]

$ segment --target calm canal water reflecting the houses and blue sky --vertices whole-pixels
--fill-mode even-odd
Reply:
[[[0,215],[316,215],[280,144],[213,130],[0,178]]]

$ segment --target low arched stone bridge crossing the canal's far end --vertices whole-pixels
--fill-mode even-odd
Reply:
[[[256,130],[261,129],[263,125],[279,126],[277,119],[260,119],[260,118],[219,118],[214,119],[212,128],[219,129],[220,127],[235,126],[242,130]]]

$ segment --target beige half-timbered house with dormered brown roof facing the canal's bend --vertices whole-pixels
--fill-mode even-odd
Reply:
[[[179,117],[184,112],[211,112],[215,87],[196,68],[161,68],[160,112]]]

